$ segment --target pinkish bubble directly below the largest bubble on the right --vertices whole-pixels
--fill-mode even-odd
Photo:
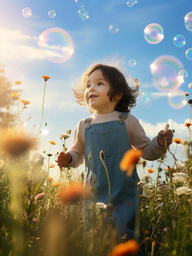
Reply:
[[[187,104],[187,97],[183,90],[168,93],[168,104],[174,109],[180,109]]]

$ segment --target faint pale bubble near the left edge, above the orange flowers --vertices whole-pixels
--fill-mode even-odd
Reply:
[[[4,70],[4,75],[10,83],[14,83],[14,81],[23,81],[24,79],[24,71],[18,64],[7,65]]]

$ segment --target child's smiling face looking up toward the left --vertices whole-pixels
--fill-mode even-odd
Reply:
[[[118,103],[118,99],[110,101],[108,92],[110,84],[104,78],[100,69],[93,71],[87,79],[84,99],[86,104],[95,110],[96,114],[106,114],[113,112]]]

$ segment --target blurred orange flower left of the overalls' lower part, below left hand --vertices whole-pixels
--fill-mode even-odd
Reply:
[[[83,195],[90,194],[90,189],[81,183],[71,183],[68,186],[60,187],[57,197],[64,203],[76,203]]]

